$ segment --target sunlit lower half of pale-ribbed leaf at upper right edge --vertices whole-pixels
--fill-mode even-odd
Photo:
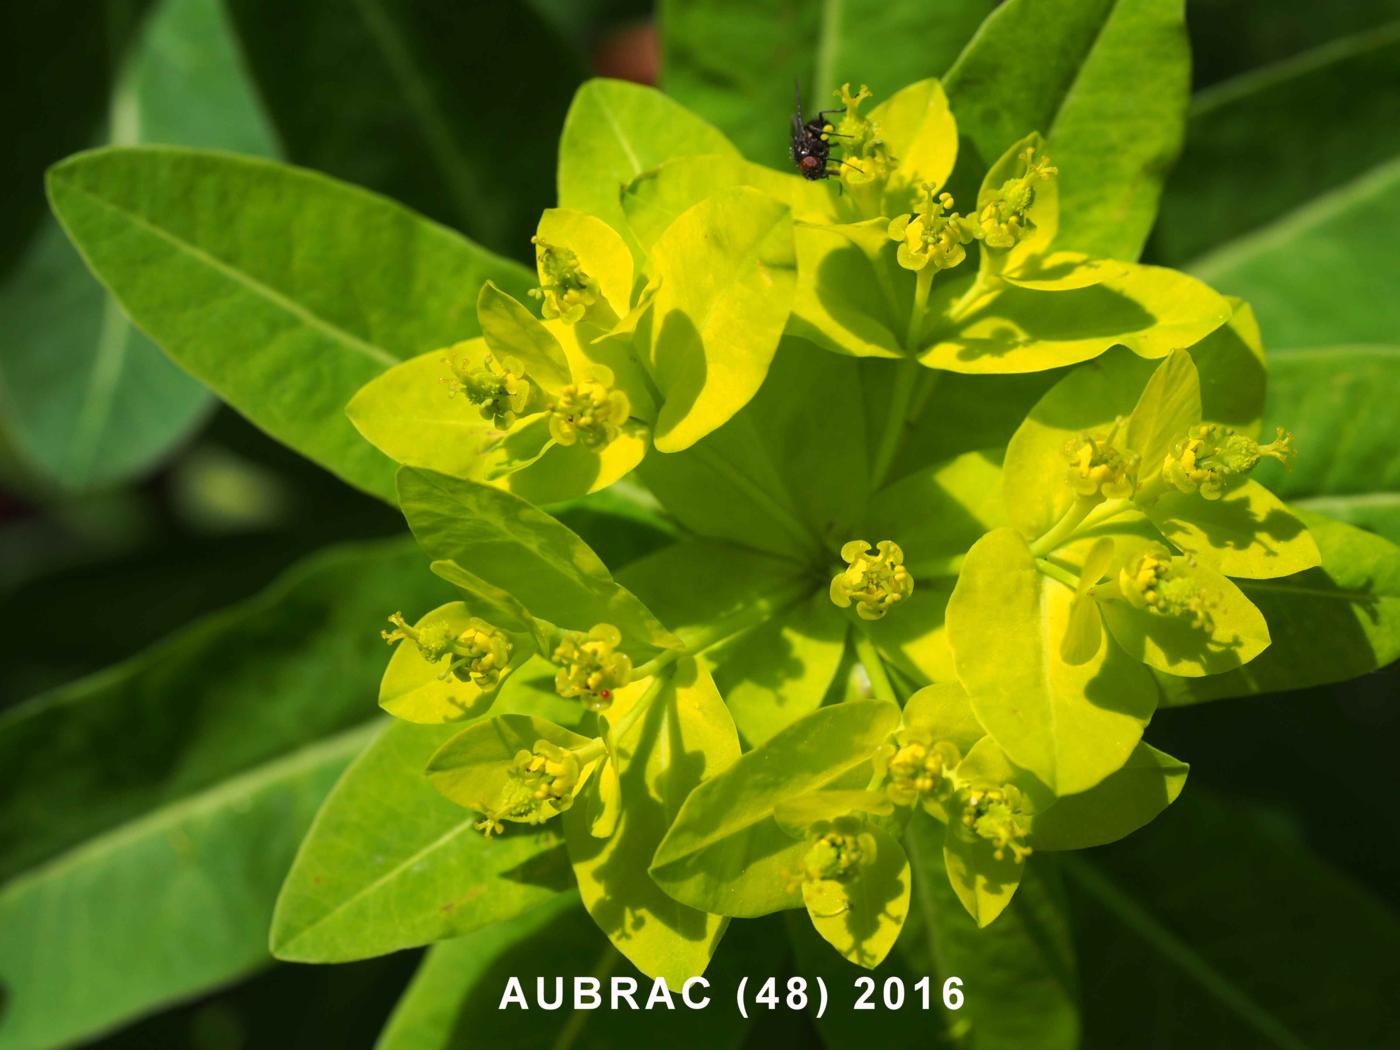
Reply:
[[[1390,160],[1197,259],[1191,272],[1249,300],[1271,347],[1392,343],[1397,231],[1400,160]]]

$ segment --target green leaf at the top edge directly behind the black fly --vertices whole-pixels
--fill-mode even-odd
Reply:
[[[785,151],[774,129],[792,115],[794,81],[808,119],[833,105],[846,81],[869,84],[876,99],[888,98],[948,69],[991,7],[990,0],[945,0],[937,7],[763,0],[742,8],[718,0],[665,0],[661,85],[713,120],[745,154],[778,167]]]

